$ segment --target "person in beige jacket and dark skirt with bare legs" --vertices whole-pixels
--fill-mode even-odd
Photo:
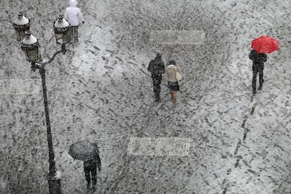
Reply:
[[[176,107],[177,91],[180,90],[178,81],[180,81],[182,78],[180,75],[180,70],[178,67],[176,67],[175,60],[169,61],[169,65],[166,67],[164,72],[164,79],[166,79],[168,82],[169,91],[172,96],[172,102],[174,107]]]

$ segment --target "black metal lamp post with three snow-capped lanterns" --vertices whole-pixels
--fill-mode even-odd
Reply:
[[[18,20],[25,20],[24,16],[18,13]],[[29,21],[29,20],[28,20]],[[27,20],[25,20],[27,22]],[[15,32],[17,34],[17,39],[21,37],[22,30],[27,29],[27,24],[29,27],[29,22],[14,22],[13,26],[15,28]],[[23,25],[23,23],[25,23]],[[25,27],[23,27],[25,26]],[[46,135],[48,139],[48,162],[49,162],[49,172],[47,175],[48,179],[48,188],[50,194],[61,194],[61,186],[60,186],[60,176],[58,176],[57,169],[56,169],[56,160],[55,160],[55,153],[53,151],[53,139],[51,135],[51,122],[49,119],[49,112],[48,112],[48,98],[46,94],[46,70],[44,67],[46,64],[51,63],[56,55],[59,53],[65,54],[65,44],[70,42],[70,32],[69,32],[70,25],[67,21],[63,20],[63,15],[58,16],[58,20],[53,23],[53,29],[56,35],[56,41],[58,44],[61,44],[61,50],[56,51],[56,53],[51,56],[46,61],[40,59],[39,56],[39,42],[36,37],[34,37],[29,31],[25,31],[25,38],[21,41],[21,49],[25,55],[25,59],[31,63],[31,68],[33,71],[39,69],[39,74],[41,75],[41,83],[42,83],[42,91],[44,95],[44,111],[46,116]]]

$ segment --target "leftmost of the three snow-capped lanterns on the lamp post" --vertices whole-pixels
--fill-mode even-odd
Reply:
[[[22,15],[22,12],[18,13],[18,18],[13,22],[13,27],[16,34],[16,39],[22,41],[26,37],[25,31],[30,30],[30,20]]]

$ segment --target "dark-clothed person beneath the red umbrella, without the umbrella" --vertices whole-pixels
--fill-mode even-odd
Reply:
[[[252,60],[252,93],[257,93],[256,84],[257,84],[257,74],[259,72],[259,90],[263,87],[263,76],[264,76],[264,63],[267,60],[265,53],[257,53],[257,51],[252,50],[249,56]]]

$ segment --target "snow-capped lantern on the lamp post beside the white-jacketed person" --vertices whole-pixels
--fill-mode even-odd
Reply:
[[[53,24],[53,31],[56,35],[57,44],[70,43],[70,24],[63,19],[63,15],[58,15],[58,20]]]

